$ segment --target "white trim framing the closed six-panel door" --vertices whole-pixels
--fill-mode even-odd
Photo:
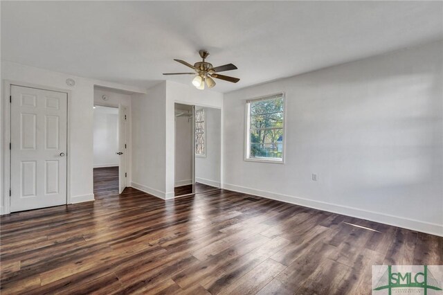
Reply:
[[[66,93],[68,96],[67,134],[66,134],[66,204],[71,204],[71,90],[37,85],[28,82],[3,80],[3,198],[1,199],[1,215],[10,214],[10,165],[9,143],[11,141],[10,125],[10,90],[11,86],[29,87],[48,91]]]

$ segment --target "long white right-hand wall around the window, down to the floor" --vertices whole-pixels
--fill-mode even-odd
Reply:
[[[225,94],[224,188],[443,235],[442,53],[426,44]],[[280,91],[286,163],[244,161],[245,100]]]

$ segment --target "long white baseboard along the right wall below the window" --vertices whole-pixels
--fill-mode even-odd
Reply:
[[[374,211],[366,211],[349,206],[342,206],[327,202],[314,201],[311,199],[304,199],[301,197],[295,197],[291,195],[272,193],[266,190],[256,190],[254,188],[246,188],[244,186],[236,186],[234,184],[223,184],[223,188],[227,190],[233,190],[238,193],[257,195],[259,197],[265,197],[267,199],[275,199],[276,201],[296,204],[300,206],[318,209],[321,211],[328,211],[341,215],[347,215],[350,217],[356,217],[363,220],[370,220],[372,222],[379,222],[382,224],[388,224],[392,226],[401,227],[404,229],[420,231],[422,233],[430,233],[431,235],[439,235],[440,237],[443,237],[443,225],[440,224],[422,222],[419,220],[413,220],[409,218],[399,217],[395,215],[388,215],[384,213],[377,213]]]

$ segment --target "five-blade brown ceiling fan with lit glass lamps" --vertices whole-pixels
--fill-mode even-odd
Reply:
[[[208,51],[199,51],[200,57],[203,59],[202,62],[196,62],[193,66],[184,60],[175,60],[185,66],[190,67],[195,72],[194,73],[163,73],[163,75],[196,75],[192,84],[197,87],[197,89],[205,89],[205,82],[208,88],[213,88],[215,86],[215,81],[213,78],[225,80],[228,82],[237,83],[239,78],[229,77],[228,75],[220,75],[219,72],[236,70],[237,66],[233,64],[224,64],[223,66],[215,66],[209,62],[205,62],[206,57],[209,56]]]

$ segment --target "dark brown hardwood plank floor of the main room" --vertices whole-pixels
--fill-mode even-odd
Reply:
[[[435,235],[228,190],[96,196],[0,218],[1,294],[370,294],[372,265],[443,264]]]

